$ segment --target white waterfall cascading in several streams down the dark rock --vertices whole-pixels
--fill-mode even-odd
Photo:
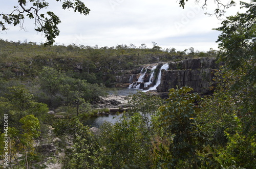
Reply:
[[[162,66],[148,66],[142,68],[138,80],[132,82],[131,85],[129,85],[129,89],[142,89],[145,90],[145,92],[156,90],[161,83],[161,70],[168,70],[168,68],[168,63]]]

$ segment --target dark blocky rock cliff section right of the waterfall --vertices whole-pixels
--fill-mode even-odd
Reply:
[[[210,82],[218,65],[213,58],[191,59],[169,63],[169,70],[163,71],[158,92],[170,88],[188,86],[198,93],[208,93]]]

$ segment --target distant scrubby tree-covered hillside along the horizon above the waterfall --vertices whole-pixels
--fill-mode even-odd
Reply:
[[[65,71],[74,78],[85,79],[90,83],[104,83],[112,86],[115,75],[122,75],[124,70],[132,70],[140,64],[161,61],[178,61],[185,58],[216,57],[217,51],[209,49],[207,52],[189,50],[176,51],[161,49],[154,42],[152,48],[145,44],[136,47],[131,44],[115,47],[101,47],[97,45],[69,46],[37,45],[33,42],[8,42],[0,40],[0,73],[2,78],[10,79],[15,76],[20,79],[34,78],[44,66]]]

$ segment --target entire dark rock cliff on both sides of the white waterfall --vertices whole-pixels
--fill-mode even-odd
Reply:
[[[188,86],[193,88],[195,92],[208,93],[214,73],[219,67],[215,61],[214,58],[200,58],[179,62],[167,62],[169,68],[167,70],[161,70],[161,77],[159,77],[161,78],[161,82],[156,89],[158,92],[168,92],[170,88]],[[159,68],[163,64],[164,63],[144,65],[143,68],[146,69],[147,72],[142,81],[138,82],[142,74],[139,70],[142,69],[141,67],[123,76],[117,76],[117,82],[119,82],[119,84],[122,83],[123,87],[129,87],[129,85],[134,82],[135,85],[139,85],[140,89],[148,90],[155,85],[153,82],[152,85],[145,88],[145,84],[150,80],[152,68],[155,66],[155,72],[159,72]],[[154,78],[152,81],[154,81]]]

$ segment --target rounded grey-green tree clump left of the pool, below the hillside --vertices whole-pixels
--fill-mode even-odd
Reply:
[[[51,107],[61,104],[81,104],[79,101],[81,99],[91,101],[105,95],[103,85],[90,84],[86,80],[68,77],[50,67],[44,67],[40,72],[39,85],[45,92],[45,96],[49,97],[49,102],[47,98],[45,101]]]

